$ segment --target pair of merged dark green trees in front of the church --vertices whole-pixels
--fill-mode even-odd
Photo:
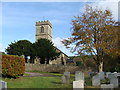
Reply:
[[[30,56],[31,63],[34,62],[35,57],[39,57],[41,64],[44,64],[45,61],[48,64],[49,60],[56,59],[60,55],[60,52],[57,52],[53,43],[47,39],[40,39],[33,44],[28,40],[19,40],[9,44],[6,52],[10,55],[24,55],[26,62],[27,56]]]

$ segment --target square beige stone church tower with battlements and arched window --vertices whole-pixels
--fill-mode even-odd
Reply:
[[[36,22],[36,41],[40,38],[52,41],[52,24],[48,20]]]

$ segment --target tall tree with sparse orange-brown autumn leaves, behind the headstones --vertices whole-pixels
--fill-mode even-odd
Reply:
[[[103,71],[104,57],[120,56],[119,26],[110,10],[101,10],[87,5],[85,12],[72,20],[71,37],[62,41],[78,55],[93,56],[99,72]]]

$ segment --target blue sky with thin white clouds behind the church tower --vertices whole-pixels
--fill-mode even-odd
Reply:
[[[49,20],[56,47],[68,56],[74,55],[60,41],[71,36],[71,20],[84,11],[86,4],[97,5],[94,2],[3,2],[0,50],[4,51],[8,44],[17,40],[35,42],[35,22]]]

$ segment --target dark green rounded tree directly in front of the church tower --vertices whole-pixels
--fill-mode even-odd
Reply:
[[[41,64],[44,64],[45,61],[49,64],[49,60],[54,60],[60,55],[53,43],[47,39],[39,39],[33,44],[33,47],[35,56],[41,59]]]

